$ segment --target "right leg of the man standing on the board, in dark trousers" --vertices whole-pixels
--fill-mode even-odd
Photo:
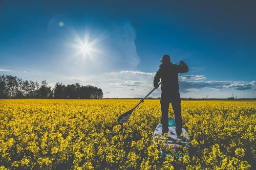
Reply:
[[[177,136],[180,136],[182,133],[182,119],[181,119],[181,100],[180,100],[180,93],[176,94],[176,98],[172,100],[172,107],[174,109],[174,116],[175,116],[175,126],[176,126],[176,133]]]

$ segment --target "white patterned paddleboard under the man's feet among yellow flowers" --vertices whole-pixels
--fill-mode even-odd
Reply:
[[[168,117],[168,135],[162,134],[163,125],[160,123],[154,131],[154,142],[157,144],[162,143],[166,147],[172,147],[174,149],[183,149],[184,147],[190,147],[190,138],[186,129],[182,128],[183,137],[178,138],[175,131],[175,120],[172,117]]]

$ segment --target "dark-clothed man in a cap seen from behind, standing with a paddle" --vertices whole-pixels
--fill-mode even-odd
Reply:
[[[154,87],[158,88],[159,81],[161,79],[161,110],[162,117],[161,123],[163,125],[163,133],[168,132],[168,110],[169,103],[172,103],[172,107],[175,115],[175,126],[176,126],[176,134],[180,137],[182,133],[182,119],[181,119],[181,100],[179,93],[179,83],[178,83],[178,74],[184,73],[188,71],[187,65],[180,61],[180,65],[173,64],[170,62],[169,55],[163,55],[162,64],[159,66],[159,69],[154,78]]]

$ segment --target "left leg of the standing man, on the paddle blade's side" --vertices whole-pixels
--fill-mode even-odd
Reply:
[[[161,123],[163,125],[162,132],[168,132],[168,110],[169,110],[169,102],[164,99],[163,94],[161,94],[161,110],[162,110],[162,117],[161,117]]]

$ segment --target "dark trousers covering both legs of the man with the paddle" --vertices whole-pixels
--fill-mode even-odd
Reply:
[[[172,107],[174,110],[175,116],[175,126],[176,126],[176,133],[179,136],[182,132],[182,119],[181,119],[181,100],[180,100],[180,93],[179,91],[170,92],[170,91],[162,91],[161,93],[161,110],[162,110],[162,118],[161,123],[163,125],[163,132],[168,131],[168,110],[169,110],[169,103],[172,103]]]

